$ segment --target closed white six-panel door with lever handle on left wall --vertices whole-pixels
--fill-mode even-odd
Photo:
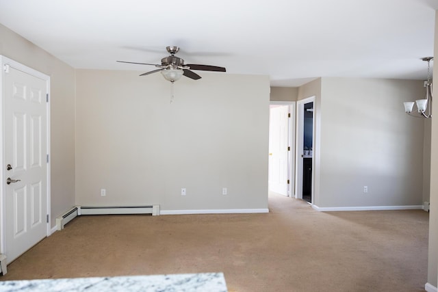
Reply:
[[[3,80],[5,254],[10,263],[47,236],[47,81],[12,66]]]

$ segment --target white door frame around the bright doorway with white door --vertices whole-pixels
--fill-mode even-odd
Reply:
[[[287,124],[287,143],[291,148],[287,152],[287,179],[289,185],[287,186],[287,196],[294,198],[295,196],[295,129],[296,129],[296,101],[270,101],[269,105],[288,105],[289,106],[289,123]]]

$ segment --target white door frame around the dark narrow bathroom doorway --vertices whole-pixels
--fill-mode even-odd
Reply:
[[[313,205],[314,198],[314,178],[315,178],[315,100],[316,96],[310,96],[308,98],[301,99],[296,102],[296,168],[295,168],[295,198],[302,199],[302,165],[303,158],[302,153],[304,151],[304,105],[306,103],[313,103],[313,125],[312,125],[312,182],[311,182],[311,204]]]

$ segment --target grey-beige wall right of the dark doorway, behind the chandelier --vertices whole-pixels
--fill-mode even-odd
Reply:
[[[424,121],[402,102],[423,95],[422,81],[322,78],[318,207],[422,204]]]

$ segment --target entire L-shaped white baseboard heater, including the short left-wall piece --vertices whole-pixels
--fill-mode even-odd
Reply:
[[[129,214],[152,214],[159,215],[159,205],[151,206],[120,206],[120,207],[87,207],[78,206],[66,211],[64,215],[56,218],[57,230],[64,229],[64,226],[80,215],[129,215]]]

